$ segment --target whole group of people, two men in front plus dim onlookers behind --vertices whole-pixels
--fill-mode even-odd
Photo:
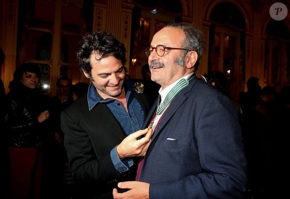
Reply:
[[[62,76],[53,97],[39,90],[38,65],[17,67],[1,91],[9,198],[279,198],[272,173],[288,167],[290,86],[250,77],[232,101],[222,72],[195,74],[203,42],[192,24],[165,24],[143,78],[130,79],[124,44],[87,33],[76,55],[91,83]]]

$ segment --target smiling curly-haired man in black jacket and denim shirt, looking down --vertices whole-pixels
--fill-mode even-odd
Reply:
[[[134,157],[144,155],[151,136],[139,130],[149,107],[125,80],[125,47],[108,32],[84,36],[77,60],[91,83],[87,95],[61,113],[69,170],[82,198],[109,199],[118,182],[135,177]]]

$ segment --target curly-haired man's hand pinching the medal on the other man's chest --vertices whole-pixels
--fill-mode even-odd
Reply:
[[[144,137],[138,139],[144,134]],[[150,144],[151,136],[151,128],[139,130],[128,135],[116,148],[119,159],[144,156]]]

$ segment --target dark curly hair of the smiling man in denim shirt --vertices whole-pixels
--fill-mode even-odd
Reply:
[[[87,33],[78,43],[76,58],[80,69],[91,77],[90,56],[92,53],[100,55],[99,59],[113,56],[125,65],[125,46],[107,31]]]

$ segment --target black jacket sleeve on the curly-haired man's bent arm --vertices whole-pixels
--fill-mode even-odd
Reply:
[[[86,120],[89,119],[86,118]],[[101,154],[95,153],[89,134],[79,121],[74,121],[66,111],[61,112],[61,121],[64,146],[69,159],[69,170],[74,181],[82,184],[114,180],[118,176],[110,158],[110,150],[114,144],[110,142],[113,142],[114,139],[102,141],[108,142],[108,147],[99,149],[102,150]],[[91,129],[99,130],[93,126]],[[110,148],[110,146],[112,147]]]

